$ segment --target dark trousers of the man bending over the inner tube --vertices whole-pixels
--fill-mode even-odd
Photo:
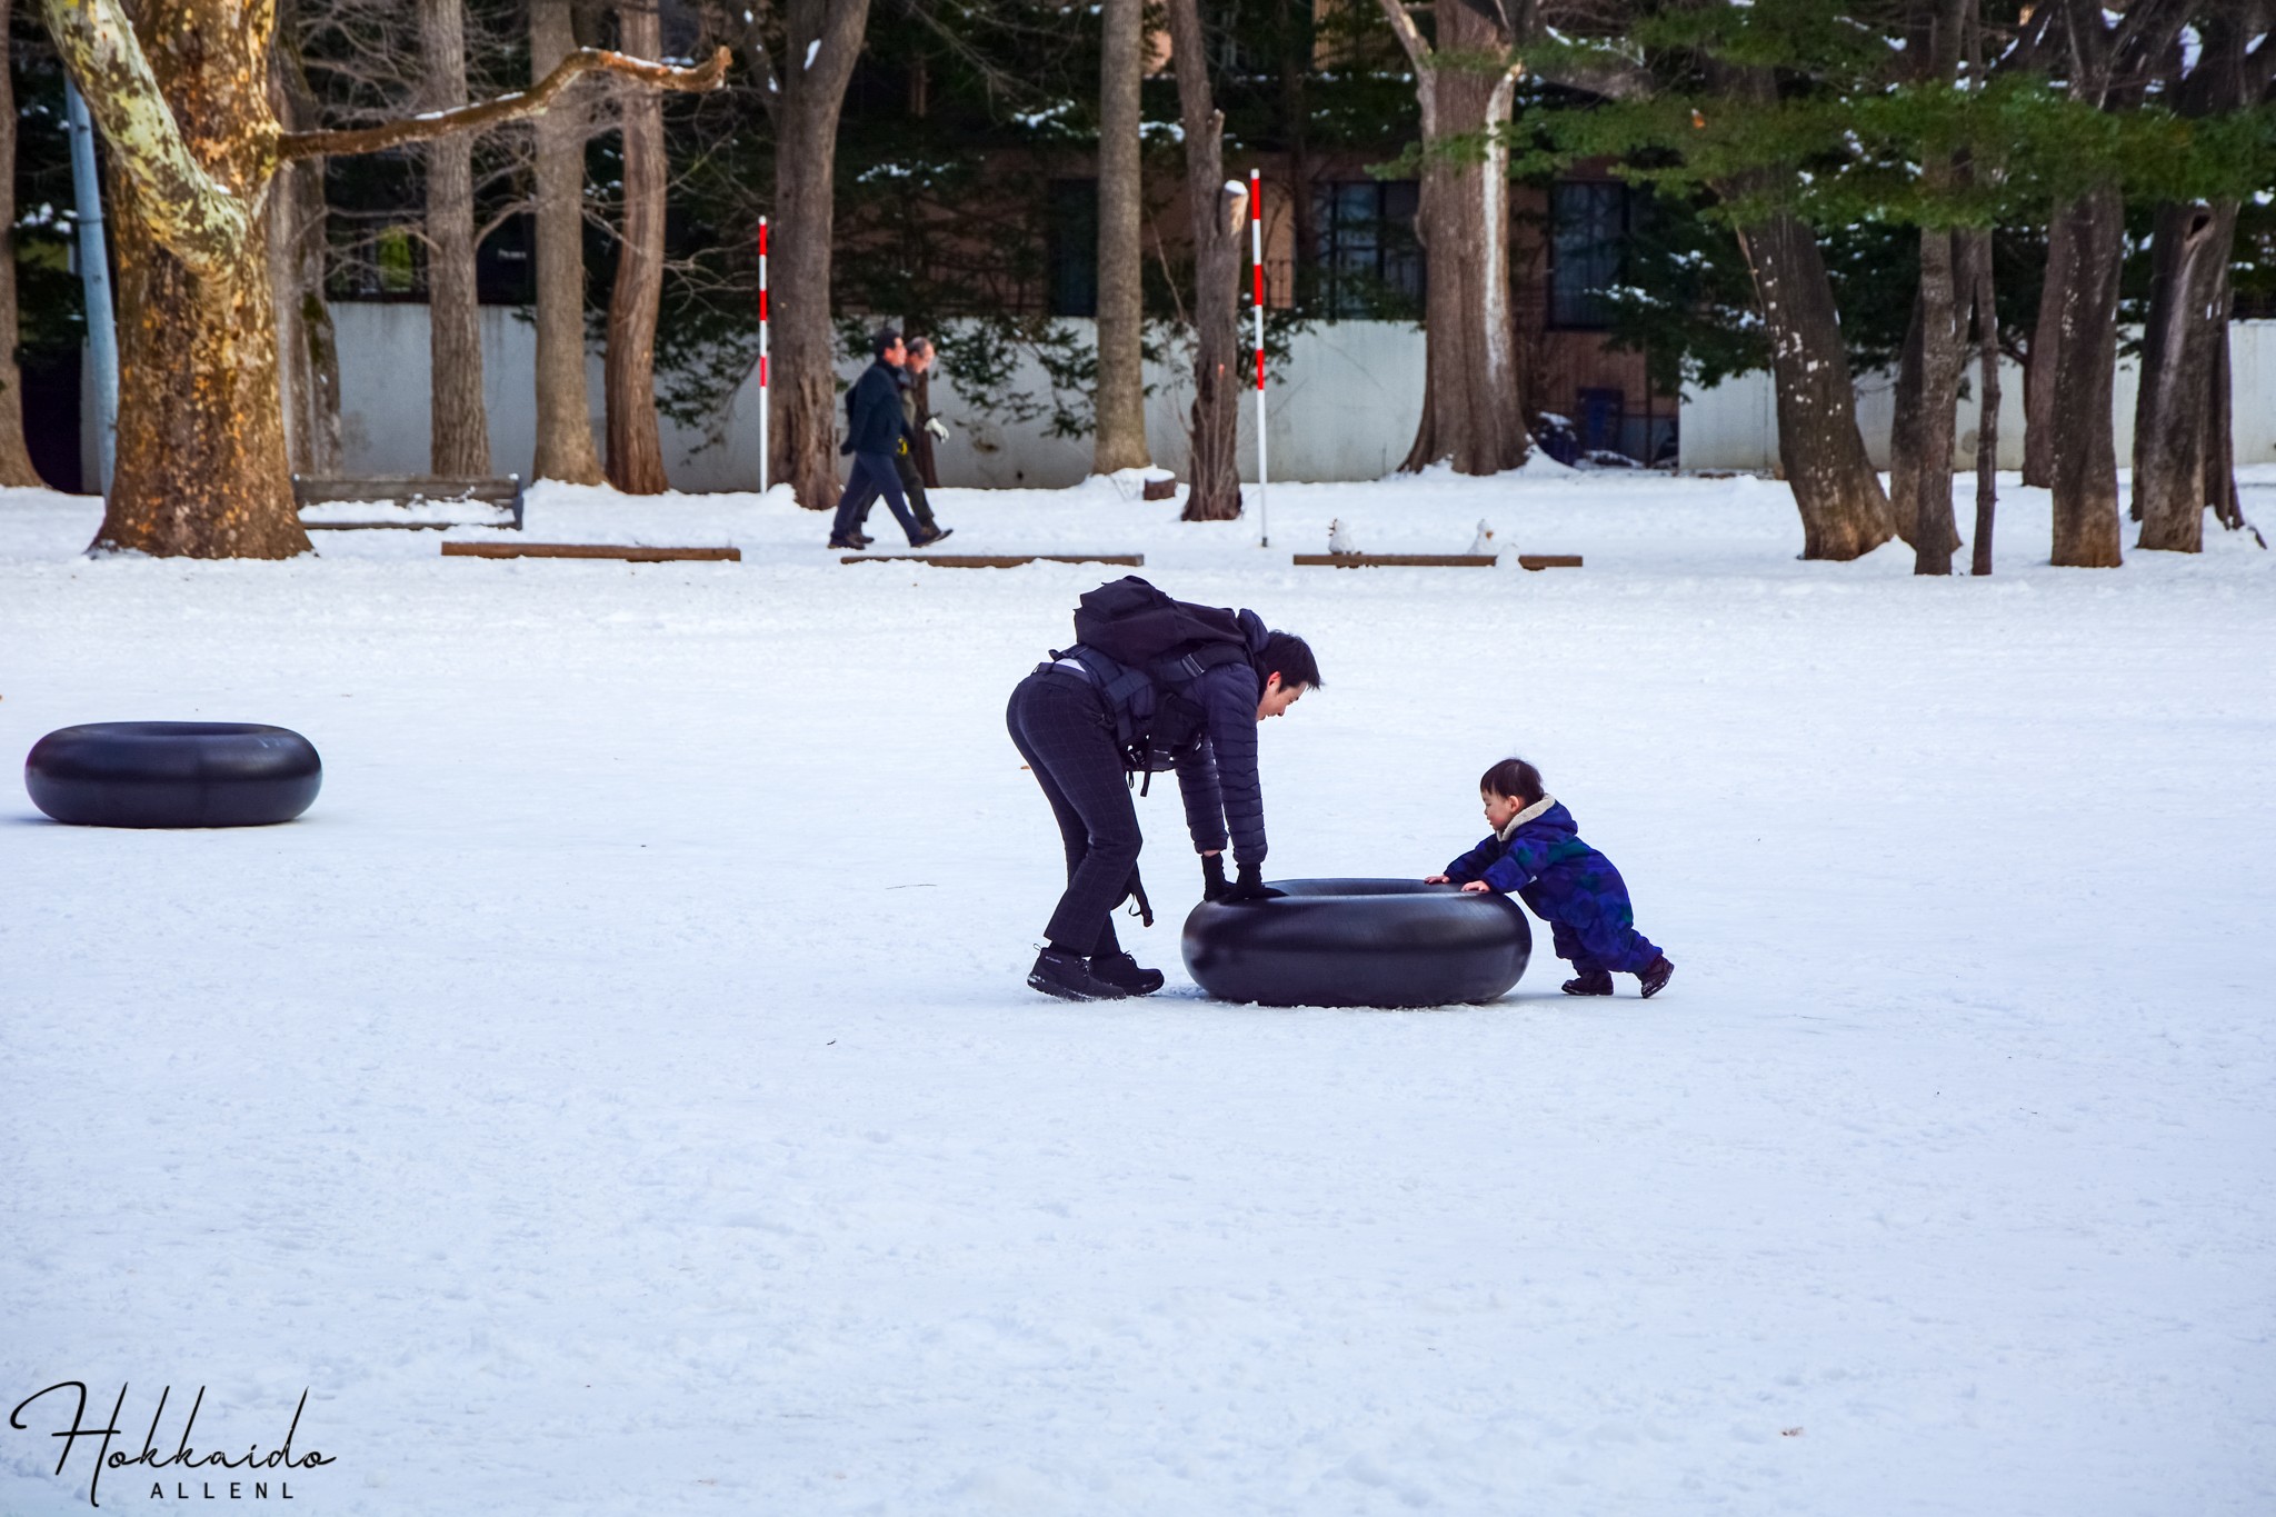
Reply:
[[[1113,912],[1129,894],[1145,835],[1106,703],[1083,675],[1042,666],[1011,691],[1004,726],[1067,846],[1067,892],[1045,928],[1052,946],[1086,958],[1120,953]]]

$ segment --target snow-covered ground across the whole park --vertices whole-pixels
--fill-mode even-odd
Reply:
[[[0,496],[0,755],[325,760],[284,828],[0,798],[0,1406],[127,1385],[132,1456],[171,1385],[164,1458],[198,1385],[264,1451],[307,1387],[303,1512],[2276,1510],[2276,553],[2055,571],[2010,489],[2001,573],[1923,582],[1750,478],[1284,487],[1270,550],[938,509],[1313,639],[1268,876],[1427,873],[1523,753],[1673,987],[1568,1001],[1543,935],[1491,1008],[1204,1001],[1170,787],[1170,987],[1029,992],[1004,698],[1118,571],[553,487],[530,539],[747,557],[91,562],[93,503]],[[1586,569],[1288,564],[1479,516]],[[23,1419],[0,1510],[86,1510]]]

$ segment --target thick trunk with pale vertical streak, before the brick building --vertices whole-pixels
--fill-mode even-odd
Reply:
[[[1516,39],[1468,5],[1441,5],[1436,45],[1402,0],[1379,0],[1416,71],[1422,186],[1416,234],[1429,255],[1422,421],[1400,469],[1457,473],[1525,462],[1516,323],[1509,302],[1509,127]],[[1489,68],[1479,59],[1509,59]],[[1484,150],[1479,152],[1479,143]]]

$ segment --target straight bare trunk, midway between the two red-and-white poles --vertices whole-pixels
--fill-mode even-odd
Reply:
[[[1099,55],[1099,387],[1090,471],[1143,469],[1145,302],[1138,266],[1143,180],[1138,168],[1138,80],[1145,68],[1145,2],[1104,0]]]

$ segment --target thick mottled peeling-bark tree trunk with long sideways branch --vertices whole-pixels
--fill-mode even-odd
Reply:
[[[118,246],[118,462],[98,548],[291,557],[269,237],[280,161],[378,152],[533,116],[583,73],[715,89],[703,68],[580,52],[546,84],[442,116],[280,134],[269,102],[271,0],[48,0],[48,30],[112,150]],[[143,45],[143,39],[159,43]]]

